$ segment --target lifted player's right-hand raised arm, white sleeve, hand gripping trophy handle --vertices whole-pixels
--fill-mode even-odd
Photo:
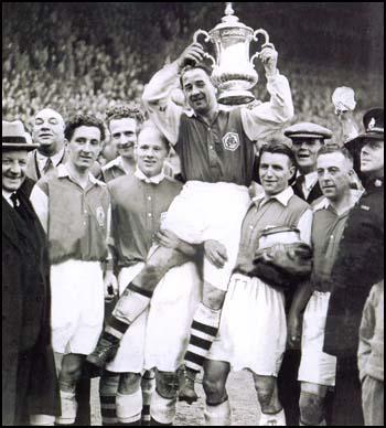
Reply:
[[[270,100],[242,109],[243,126],[251,140],[269,137],[293,116],[291,89],[287,77],[279,73],[277,61],[278,53],[275,49],[265,47],[261,51]]]

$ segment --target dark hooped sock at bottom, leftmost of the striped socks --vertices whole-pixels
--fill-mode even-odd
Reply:
[[[116,396],[119,374],[105,371],[99,381],[100,416],[103,425],[117,425]]]

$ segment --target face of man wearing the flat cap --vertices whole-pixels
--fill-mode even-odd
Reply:
[[[297,137],[292,139],[292,150],[297,167],[302,174],[315,171],[319,149],[323,140],[318,138]]]

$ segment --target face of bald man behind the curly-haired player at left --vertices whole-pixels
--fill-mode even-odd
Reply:
[[[43,149],[62,149],[64,142],[63,117],[51,108],[44,108],[35,116],[33,124],[33,141],[41,145]]]

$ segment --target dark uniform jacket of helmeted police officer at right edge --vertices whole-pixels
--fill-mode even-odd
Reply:
[[[324,352],[355,356],[364,303],[384,278],[384,180],[373,180],[351,211],[331,275]]]

